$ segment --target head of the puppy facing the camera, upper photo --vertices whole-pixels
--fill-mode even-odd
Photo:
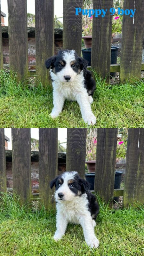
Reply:
[[[46,68],[52,68],[52,72],[60,82],[73,82],[76,76],[87,67],[87,61],[78,57],[74,50],[60,50],[45,61]]]

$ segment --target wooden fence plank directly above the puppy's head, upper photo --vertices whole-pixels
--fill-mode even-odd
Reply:
[[[73,49],[81,56],[82,13],[76,15],[75,8],[82,8],[83,0],[63,0],[63,49]]]

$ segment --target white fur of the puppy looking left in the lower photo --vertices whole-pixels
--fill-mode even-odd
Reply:
[[[59,240],[65,234],[67,224],[80,224],[84,231],[86,244],[97,248],[99,240],[94,233],[95,220],[92,220],[91,213],[88,210],[88,199],[86,193],[76,196],[68,187],[68,180],[72,180],[77,172],[66,172],[61,177],[64,183],[55,192],[57,202],[56,232],[54,240]],[[60,200],[58,193],[64,194],[64,200]]]

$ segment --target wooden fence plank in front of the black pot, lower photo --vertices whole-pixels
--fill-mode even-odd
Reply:
[[[113,204],[117,128],[98,128],[94,191]]]

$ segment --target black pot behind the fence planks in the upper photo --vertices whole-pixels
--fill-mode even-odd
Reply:
[[[111,60],[110,60],[110,64],[116,64],[117,63],[118,49],[119,49],[119,47],[115,47],[115,46],[111,47]],[[91,66],[91,52],[92,52],[92,48],[82,49],[83,58],[88,61],[88,66]],[[115,77],[116,76],[116,72],[111,72],[110,76]]]

